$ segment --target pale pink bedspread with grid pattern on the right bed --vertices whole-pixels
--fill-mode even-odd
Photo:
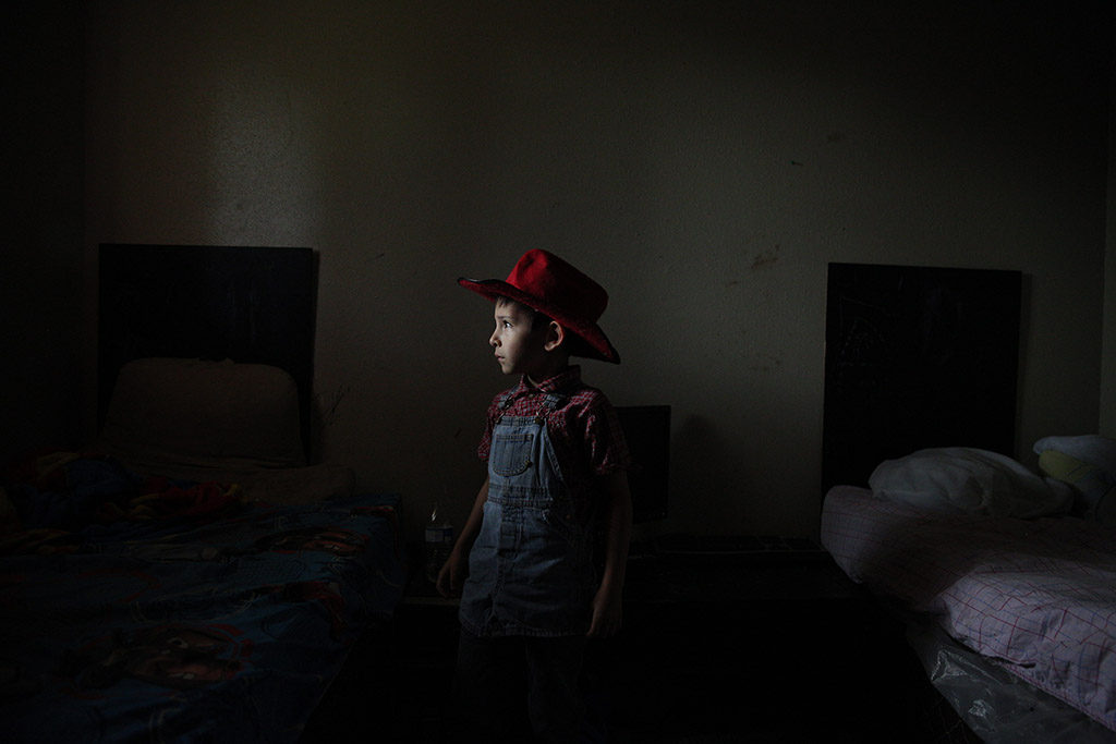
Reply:
[[[821,542],[854,581],[1116,731],[1116,529],[935,514],[837,486]]]

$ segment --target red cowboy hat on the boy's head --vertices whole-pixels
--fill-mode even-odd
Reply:
[[[521,302],[558,321],[575,340],[570,354],[619,364],[608,337],[597,320],[608,305],[608,292],[554,253],[533,249],[523,253],[508,274],[499,279],[465,279],[458,283],[496,301],[499,297]]]

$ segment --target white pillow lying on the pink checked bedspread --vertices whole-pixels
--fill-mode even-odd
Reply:
[[[868,479],[882,499],[934,512],[1031,519],[1066,512],[1072,490],[1011,457],[972,447],[920,450],[886,460]]]

